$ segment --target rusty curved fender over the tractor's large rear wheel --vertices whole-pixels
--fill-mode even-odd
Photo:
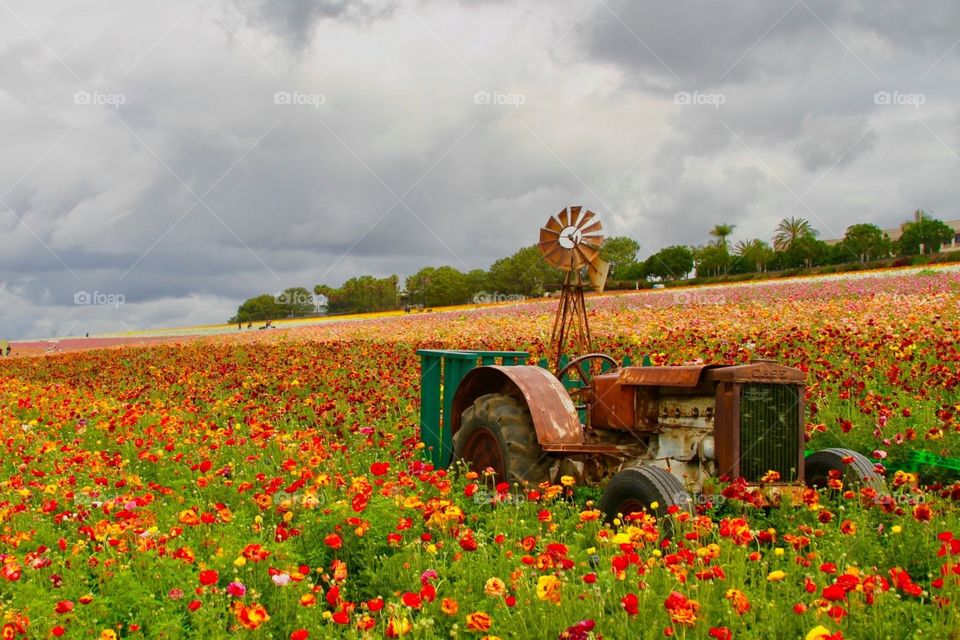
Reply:
[[[577,409],[563,384],[546,369],[526,365],[491,365],[467,373],[453,397],[451,435],[460,429],[463,412],[488,393],[507,393],[522,399],[530,409],[541,445],[583,443]]]

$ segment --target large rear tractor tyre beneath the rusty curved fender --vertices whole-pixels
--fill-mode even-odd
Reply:
[[[496,482],[536,485],[550,479],[551,461],[537,442],[530,409],[504,393],[480,396],[463,412],[453,458],[477,473],[493,469]]]

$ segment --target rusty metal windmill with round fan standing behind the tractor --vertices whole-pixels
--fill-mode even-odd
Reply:
[[[582,214],[581,214],[582,212]],[[592,340],[583,299],[583,269],[589,284],[603,291],[610,265],[600,259],[603,230],[597,214],[583,207],[566,207],[540,228],[540,252],[553,267],[565,271],[560,305],[550,336],[550,364],[560,368],[560,357],[569,349],[575,355],[590,353]]]

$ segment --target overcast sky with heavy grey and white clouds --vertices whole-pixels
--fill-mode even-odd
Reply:
[[[958,88],[955,0],[0,0],[0,338],[486,268],[568,204],[642,256],[956,219]]]

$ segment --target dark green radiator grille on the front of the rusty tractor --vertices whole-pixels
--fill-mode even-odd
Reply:
[[[781,482],[797,479],[800,399],[789,384],[745,384],[740,389],[740,475],[757,482],[767,471]]]

